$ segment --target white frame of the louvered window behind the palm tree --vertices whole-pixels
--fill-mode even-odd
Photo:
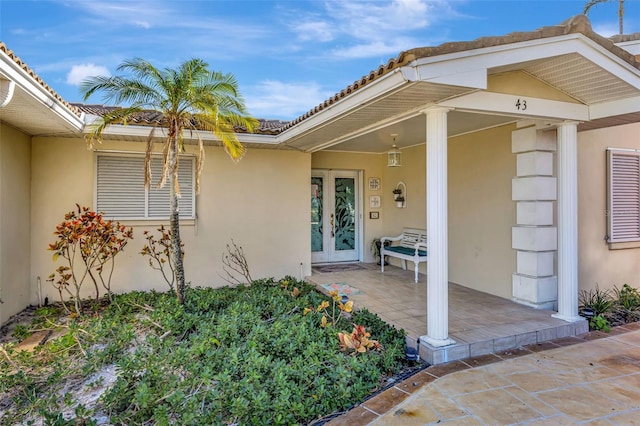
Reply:
[[[96,211],[102,211],[104,213],[105,218],[108,219],[116,219],[116,220],[121,220],[121,221],[168,221],[169,220],[169,215],[167,213],[167,215],[157,215],[154,214],[152,211],[152,206],[150,206],[150,198],[153,195],[153,191],[156,190],[156,184],[158,181],[158,174],[159,173],[154,173],[152,174],[152,183],[151,183],[151,187],[149,189],[146,189],[144,187],[144,153],[140,153],[140,152],[129,152],[129,151],[96,151],[95,153],[95,157],[94,157],[94,190],[93,190],[93,205],[96,208]],[[128,215],[128,214],[123,214],[122,212],[113,212],[113,211],[104,211],[103,208],[101,208],[101,205],[99,204],[99,185],[100,185],[100,180],[101,177],[99,176],[99,159],[100,157],[113,157],[113,158],[136,158],[136,159],[140,159],[141,163],[140,163],[140,168],[139,171],[136,168],[135,176],[131,177],[132,181],[135,181],[137,179],[137,183],[136,183],[136,187],[133,188],[134,191],[139,190],[141,192],[140,196],[144,197],[144,213],[142,215]],[[161,154],[153,154],[153,159],[162,159],[162,155]],[[184,185],[181,182],[180,185],[180,193],[181,193],[181,198],[180,198],[180,203],[184,206],[183,203],[189,203],[189,208],[185,209],[187,210],[187,212],[183,213],[183,211],[180,211],[180,219],[195,219],[196,218],[196,193],[195,193],[195,173],[196,173],[196,158],[194,155],[190,155],[190,154],[181,154],[179,157],[179,161],[184,165],[184,164],[190,164],[190,179],[191,181],[187,184]],[[188,162],[188,163],[187,163]],[[184,167],[184,166],[183,166]],[[183,171],[183,168],[179,169],[180,171]],[[133,171],[133,170],[132,170]],[[184,172],[183,172],[184,173]],[[142,185],[142,188],[140,188],[137,185]],[[167,187],[168,184],[165,184],[165,188]],[[117,195],[117,194],[116,194]],[[138,194],[135,194],[134,196],[137,196]],[[169,208],[169,198],[168,195],[166,197],[167,203],[167,209]],[[104,203],[101,203],[102,206],[104,206]],[[190,213],[188,213],[188,211],[190,210]]]

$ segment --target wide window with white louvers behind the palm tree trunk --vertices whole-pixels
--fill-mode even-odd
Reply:
[[[195,218],[195,158],[181,157],[178,165],[180,218]],[[144,187],[144,156],[98,153],[96,159],[96,210],[115,219],[169,218],[169,185],[157,189],[162,157],[151,159],[151,188]]]

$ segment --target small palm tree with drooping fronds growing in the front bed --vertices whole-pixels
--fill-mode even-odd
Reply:
[[[177,69],[158,69],[149,62],[135,58],[123,62],[117,70],[125,75],[91,77],[83,81],[81,91],[86,101],[92,94],[103,92],[106,102],[117,107],[101,117],[88,135],[90,146],[100,142],[103,131],[112,124],[127,124],[136,114],[155,111],[162,114],[162,127],[167,128],[164,142],[164,166],[158,187],[169,181],[171,257],[175,265],[176,294],[184,304],[185,278],[180,240],[178,199],[178,156],[184,152],[184,132],[197,136],[196,193],[200,191],[200,173],[204,161],[204,147],[199,130],[211,131],[220,140],[234,161],[239,161],[245,149],[238,141],[235,130],[253,131],[257,121],[250,117],[239,94],[238,85],[231,74],[209,71],[208,64],[190,59]],[[126,73],[129,74],[126,74]],[[153,128],[149,133],[145,157],[145,186],[151,185],[151,153]]]

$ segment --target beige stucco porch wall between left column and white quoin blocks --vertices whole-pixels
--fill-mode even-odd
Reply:
[[[516,267],[513,129],[501,126],[449,141],[449,280],[504,298],[511,298]]]

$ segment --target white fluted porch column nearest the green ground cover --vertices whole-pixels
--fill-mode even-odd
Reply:
[[[447,111],[434,107],[427,115],[427,336],[441,347],[449,339],[449,244],[447,224]]]

